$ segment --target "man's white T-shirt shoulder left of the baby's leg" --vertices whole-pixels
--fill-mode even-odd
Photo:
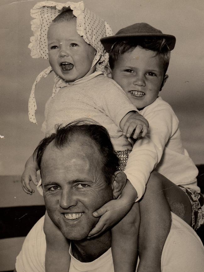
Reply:
[[[46,239],[43,231],[44,216],[25,237],[22,249],[16,258],[16,270],[30,272],[45,271]]]

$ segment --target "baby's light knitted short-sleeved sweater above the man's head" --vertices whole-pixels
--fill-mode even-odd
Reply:
[[[91,118],[108,130],[115,150],[126,150],[132,145],[122,135],[120,121],[128,112],[136,110],[114,80],[98,75],[86,82],[61,87],[46,103],[42,130],[48,136],[55,131],[56,124]]]

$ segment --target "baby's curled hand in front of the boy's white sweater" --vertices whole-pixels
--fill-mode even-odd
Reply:
[[[132,113],[125,121],[125,124],[123,126],[123,135],[126,135],[126,137],[133,137],[134,139],[137,139],[138,136],[144,137],[149,128],[148,121],[139,113]],[[142,134],[140,135],[140,133]]]

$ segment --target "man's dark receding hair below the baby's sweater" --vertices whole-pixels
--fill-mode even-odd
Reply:
[[[55,133],[40,141],[33,154],[38,168],[40,169],[43,154],[51,142],[54,147],[62,149],[69,146],[78,135],[90,138],[98,147],[101,154],[101,169],[104,173],[105,182],[110,184],[112,175],[119,166],[119,160],[110,141],[110,136],[103,126],[93,124],[93,122],[90,124],[90,121],[84,119],[73,121],[66,126],[58,125]]]

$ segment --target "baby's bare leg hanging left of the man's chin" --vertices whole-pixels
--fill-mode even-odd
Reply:
[[[51,221],[47,212],[43,229],[46,235],[46,272],[68,272],[70,265],[69,243],[62,232]]]

